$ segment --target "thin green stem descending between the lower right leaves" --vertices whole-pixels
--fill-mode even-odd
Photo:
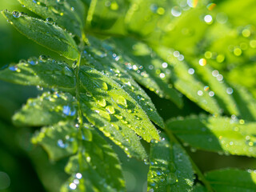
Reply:
[[[166,127],[165,131],[172,142],[178,143],[180,146],[182,146],[182,143],[178,141],[178,139],[175,137],[170,129]],[[190,155],[187,156],[190,158]],[[205,176],[202,174],[201,170],[199,170],[198,166],[194,163],[192,158],[190,158],[190,162],[193,166],[195,173],[198,174],[198,179],[206,186],[207,191],[214,192],[213,188],[210,186],[210,183],[206,180]]]

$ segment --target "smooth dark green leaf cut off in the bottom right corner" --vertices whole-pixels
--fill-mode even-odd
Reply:
[[[252,170],[214,170],[206,173],[206,179],[218,192],[253,192],[256,190],[256,173]]]

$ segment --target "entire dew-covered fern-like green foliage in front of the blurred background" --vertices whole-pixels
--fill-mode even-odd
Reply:
[[[149,192],[256,189],[255,175],[246,171],[203,175],[181,145],[255,157],[256,111],[247,90],[225,81],[218,70],[206,66],[206,58],[192,57],[186,46],[169,46],[179,40],[184,44],[166,30],[174,25],[171,7],[176,1],[19,2],[40,18],[2,10],[7,21],[62,59],[41,55],[21,60],[0,70],[0,79],[46,90],[30,98],[13,122],[42,126],[32,142],[41,145],[51,160],[69,157],[65,170],[70,178],[61,191],[126,191],[118,156],[104,136],[128,158],[149,164]],[[198,17],[189,11],[193,16],[181,18],[177,27]],[[197,35],[191,44],[203,34]],[[176,49],[189,53],[186,59]],[[140,85],[180,108],[182,97],[189,98],[208,114],[165,124]],[[151,142],[150,154],[141,140]]]

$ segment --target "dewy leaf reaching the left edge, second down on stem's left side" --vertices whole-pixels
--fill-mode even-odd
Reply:
[[[74,92],[74,70],[65,62],[57,62],[41,55],[40,58],[21,60],[0,70],[0,79],[23,86],[44,86]]]

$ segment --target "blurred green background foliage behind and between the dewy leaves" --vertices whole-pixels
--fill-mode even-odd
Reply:
[[[84,2],[86,5],[90,4],[90,1]],[[90,29],[90,34],[97,34],[98,37],[102,37],[102,34],[130,34],[134,38],[142,38],[152,46],[160,43],[178,50],[187,61],[198,62],[204,58],[207,61],[206,65],[223,74],[227,82],[245,86],[256,98],[254,0],[203,0],[194,8],[189,8],[186,1],[158,1],[159,4],[153,6],[151,1],[139,1],[158,14],[152,14],[151,10],[141,12],[136,8],[137,1],[114,2],[120,7],[118,13],[106,13],[106,7],[99,4],[94,7],[95,11],[87,7],[89,15],[95,14],[86,26]],[[114,2],[112,1],[113,10],[117,7]],[[134,9],[129,10],[129,3]],[[159,10],[159,7],[166,9]],[[0,9],[19,10],[34,15],[20,6],[16,0],[0,2]],[[124,13],[127,13],[126,17]],[[40,54],[59,58],[57,54],[24,38],[6,22],[5,18],[0,17],[0,67],[18,62],[22,58],[38,57]],[[14,112],[27,98],[36,97],[40,90],[6,82],[0,82],[0,87],[0,191],[58,191],[67,178],[63,171],[67,159],[48,162],[46,153],[30,143],[34,130],[15,127],[11,122]],[[180,109],[173,102],[158,98],[148,90],[146,92],[165,120],[203,112],[187,98],[184,98],[184,106]],[[148,166],[134,159],[127,160],[122,150],[115,146],[114,150],[118,152],[122,161],[127,190],[145,192]],[[253,158],[195,152],[194,149],[191,150],[192,153],[190,148],[187,150],[202,172],[226,166],[256,169],[256,161]],[[5,190],[1,189],[1,179],[7,184],[10,181],[10,186],[8,185]]]

